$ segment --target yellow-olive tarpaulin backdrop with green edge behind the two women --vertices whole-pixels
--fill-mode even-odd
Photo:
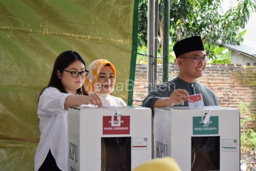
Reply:
[[[137,27],[138,0],[0,0],[0,170],[33,170],[38,95],[61,52],[110,60],[132,104]]]

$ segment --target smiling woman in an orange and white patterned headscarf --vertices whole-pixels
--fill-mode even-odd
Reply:
[[[105,106],[126,106],[121,98],[110,95],[116,83],[116,69],[110,61],[94,60],[88,70],[87,90],[97,93]]]

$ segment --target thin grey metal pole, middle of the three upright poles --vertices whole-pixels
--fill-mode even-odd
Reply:
[[[154,41],[154,87],[157,85],[157,51],[158,51],[158,0],[155,1],[155,41]]]

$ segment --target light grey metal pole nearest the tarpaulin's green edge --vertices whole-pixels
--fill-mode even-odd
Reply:
[[[147,2],[147,55],[154,56],[154,0]],[[154,58],[147,57],[147,93],[150,93],[153,88],[153,67]]]

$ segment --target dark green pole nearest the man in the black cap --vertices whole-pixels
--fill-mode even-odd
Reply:
[[[168,81],[170,3],[163,0],[163,82]]]

